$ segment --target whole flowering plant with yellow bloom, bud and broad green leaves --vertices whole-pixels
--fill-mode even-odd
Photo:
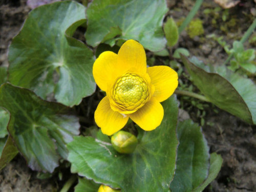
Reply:
[[[256,19],[226,49],[224,65],[174,49],[202,2],[179,28],[173,18],[163,24],[165,0],[63,1],[32,10],[9,47],[8,69],[0,67],[0,169],[20,153],[45,177],[70,167],[61,192],[77,178],[75,192],[202,191],[222,158],[209,154],[198,124],[178,121],[179,103],[196,106],[202,125],[211,103],[256,123],[256,86],[237,73],[255,74],[255,50],[243,42]],[[86,28],[85,42],[75,38],[78,27]],[[202,34],[201,20],[187,29]],[[146,67],[144,49],[169,56],[166,66]]]

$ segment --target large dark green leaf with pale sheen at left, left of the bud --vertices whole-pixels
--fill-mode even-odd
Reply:
[[[0,106],[10,112],[9,134],[28,165],[52,173],[60,156],[68,156],[66,144],[79,134],[73,111],[9,83],[0,88]]]

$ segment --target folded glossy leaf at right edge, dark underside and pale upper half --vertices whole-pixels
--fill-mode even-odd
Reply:
[[[256,123],[256,86],[250,79],[225,68],[207,72],[185,56],[181,55],[181,59],[194,83],[208,100],[248,123]]]

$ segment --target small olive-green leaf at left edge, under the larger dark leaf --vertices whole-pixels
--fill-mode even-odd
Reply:
[[[3,152],[1,153],[0,170],[3,169],[17,154],[18,150],[14,145],[12,138],[9,136],[3,148]]]

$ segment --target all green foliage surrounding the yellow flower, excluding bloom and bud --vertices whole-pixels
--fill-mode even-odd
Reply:
[[[163,26],[168,11],[164,0],[94,0],[88,8],[64,1],[31,11],[11,43],[8,79],[7,68],[0,67],[0,169],[20,153],[33,170],[44,172],[38,176],[40,178],[59,173],[61,179],[62,172],[55,168],[59,162],[68,160],[64,161],[67,162],[65,166],[71,163],[72,173],[84,177],[79,178],[75,192],[97,191],[101,183],[122,191],[202,191],[216,178],[222,159],[211,154],[209,160],[208,146],[197,124],[187,120],[177,126],[175,96],[162,103],[164,117],[156,130],[145,132],[136,129],[133,123],[125,126],[126,131],[132,130],[132,136],[137,135],[138,139],[131,154],[115,151],[110,137],[102,134],[93,122],[91,115],[102,97],[100,92],[84,99],[86,106],[89,103],[87,109],[79,105],[83,97],[95,92],[92,76],[95,58],[103,51],[117,53],[125,40],[135,39],[152,51],[147,51],[148,66],[160,60],[178,70],[178,91],[198,91],[190,82],[193,79],[205,95],[204,101],[209,100],[255,124],[256,88],[251,80],[225,67],[204,66],[196,59],[189,61],[185,57],[190,55],[187,49],[177,48],[170,55],[172,50],[166,48],[166,42],[169,48],[177,44],[179,30],[187,26],[202,2],[196,1],[193,14],[179,29],[173,18],[167,19]],[[215,11],[222,10],[216,8]],[[205,10],[205,14],[214,13]],[[228,11],[222,11],[219,17],[229,20],[230,25],[235,23]],[[73,37],[79,26],[87,27],[85,41],[94,47],[94,52],[81,39]],[[192,20],[186,30],[191,38],[204,34],[202,20]],[[234,41],[230,49],[222,37],[214,38],[228,54],[234,55],[230,61],[231,70],[243,68],[250,73],[256,72],[255,50],[244,50],[239,41]],[[180,58],[190,77],[179,63]],[[193,108],[201,125],[211,123],[204,119],[208,103],[189,96],[181,97],[179,102],[181,108],[189,102],[189,108]],[[88,122],[81,120],[80,136],[76,112],[91,118]]]

